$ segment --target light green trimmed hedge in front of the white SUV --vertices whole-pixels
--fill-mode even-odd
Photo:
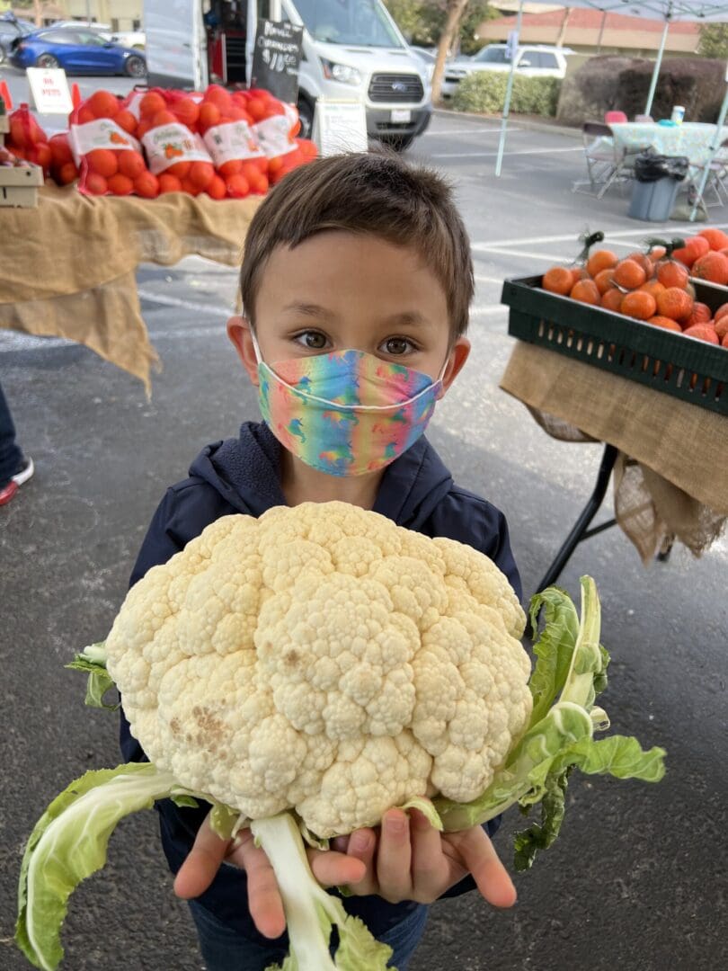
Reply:
[[[456,112],[500,115],[506,101],[508,74],[499,71],[474,71],[457,85],[452,98]],[[554,117],[561,82],[558,78],[513,78],[511,111],[515,115]]]

